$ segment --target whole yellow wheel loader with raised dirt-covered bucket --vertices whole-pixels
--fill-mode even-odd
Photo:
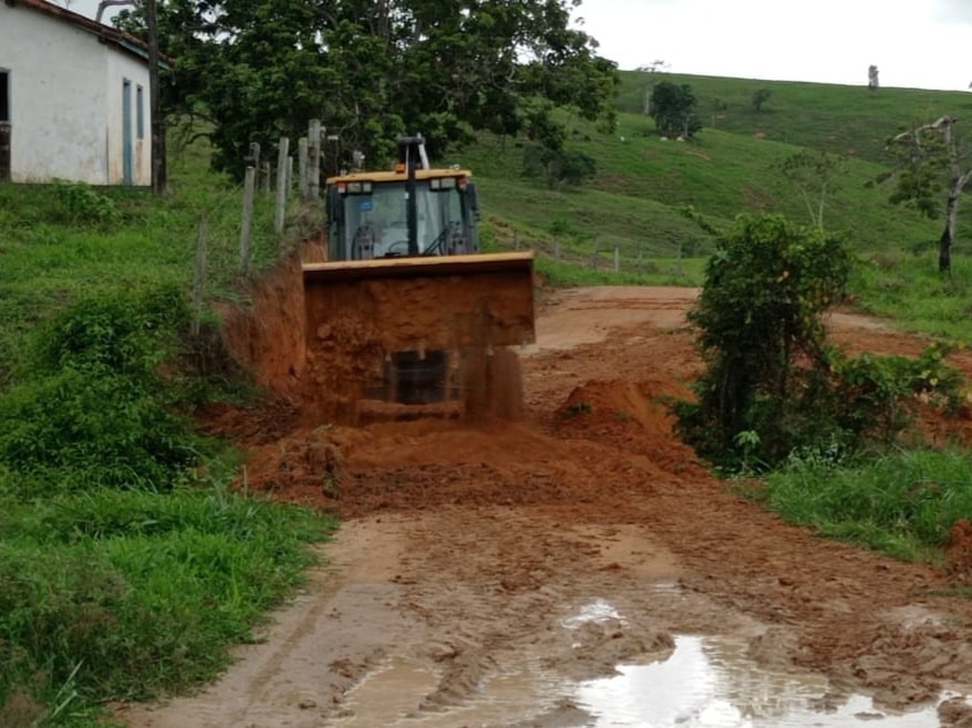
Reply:
[[[307,365],[339,414],[517,414],[508,347],[535,340],[534,258],[479,251],[471,176],[431,168],[415,136],[393,170],[327,180],[328,260],[302,266]]]

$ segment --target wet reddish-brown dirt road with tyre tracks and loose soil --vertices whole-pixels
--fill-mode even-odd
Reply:
[[[845,725],[825,714],[859,694],[873,706],[847,725],[972,725],[958,698],[935,714],[972,693],[972,604],[937,595],[931,569],[782,523],[673,438],[663,402],[700,366],[684,327],[693,297],[552,294],[521,355],[516,424],[349,429],[286,406],[226,413],[225,430],[252,448],[251,487],[344,524],[308,589],[218,684],[122,717],[153,728]],[[831,323],[855,350],[921,347],[876,322]],[[608,707],[585,699],[619,666],[699,645],[738,653],[722,713],[712,695],[675,708],[635,698],[640,717],[608,722]],[[771,673],[816,686],[805,722],[774,722],[795,708],[754,677]],[[682,677],[702,689],[700,675]]]

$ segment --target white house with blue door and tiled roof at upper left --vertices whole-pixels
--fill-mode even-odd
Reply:
[[[152,184],[137,39],[44,0],[0,0],[0,180]]]

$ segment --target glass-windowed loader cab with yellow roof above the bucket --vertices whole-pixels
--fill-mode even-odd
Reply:
[[[359,171],[328,179],[325,194],[330,260],[479,251],[467,170]]]

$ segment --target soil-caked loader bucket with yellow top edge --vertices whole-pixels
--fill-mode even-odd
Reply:
[[[303,264],[307,379],[320,401],[463,399],[459,362],[535,341],[525,253]]]

